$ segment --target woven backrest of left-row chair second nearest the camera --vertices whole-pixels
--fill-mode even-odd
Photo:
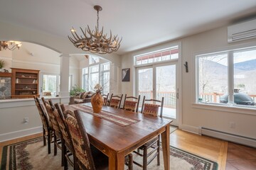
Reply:
[[[65,123],[65,118],[64,118],[60,103],[55,103],[54,106],[55,106],[55,109],[53,111],[53,114],[55,115],[55,118],[57,120],[58,126],[60,128],[60,132],[65,142],[67,142],[68,145],[70,145],[71,147],[72,142],[71,142],[70,136],[68,135],[68,128],[67,128],[68,125]]]

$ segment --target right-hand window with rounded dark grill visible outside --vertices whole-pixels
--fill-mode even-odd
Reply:
[[[196,64],[197,102],[255,107],[255,47],[198,55]]]

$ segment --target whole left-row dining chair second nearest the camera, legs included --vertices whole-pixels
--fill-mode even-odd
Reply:
[[[69,133],[68,125],[65,123],[65,117],[63,113],[64,105],[63,104],[60,105],[60,103],[55,103],[54,106],[56,109],[53,111],[53,114],[55,115],[55,118],[60,127],[61,136],[63,137],[62,141],[63,141],[63,154],[64,154],[64,169],[65,170],[68,169],[68,163],[69,163],[71,166],[73,166],[75,170],[75,166],[74,166],[75,151],[73,147],[73,142],[70,138],[70,135],[68,134]],[[72,155],[73,155],[73,160],[70,158]]]

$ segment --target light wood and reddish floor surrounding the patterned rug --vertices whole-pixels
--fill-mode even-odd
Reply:
[[[0,142],[0,160],[5,145],[39,137],[41,134]],[[176,130],[170,135],[171,146],[186,150],[201,157],[218,162],[218,170],[256,169],[256,149],[245,147],[213,137],[196,135]],[[226,162],[227,161],[227,162]]]

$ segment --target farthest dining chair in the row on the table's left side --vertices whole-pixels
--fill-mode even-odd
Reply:
[[[38,97],[33,96],[36,102],[36,108],[38,109],[38,113],[41,118],[41,122],[43,124],[43,146],[46,146],[46,140],[48,145],[48,154],[50,154],[50,143],[53,137],[53,125],[50,123],[48,116],[46,115],[46,111],[43,108],[43,105],[40,103]]]

